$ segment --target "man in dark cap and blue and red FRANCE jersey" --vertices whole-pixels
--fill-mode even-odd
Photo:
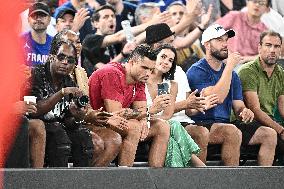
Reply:
[[[34,3],[29,8],[28,22],[31,31],[21,36],[25,52],[26,64],[35,66],[45,63],[52,37],[46,33],[50,22],[49,7],[41,2]]]

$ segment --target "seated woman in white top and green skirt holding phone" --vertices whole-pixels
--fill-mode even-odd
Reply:
[[[173,81],[176,69],[176,50],[171,45],[165,44],[157,52],[156,68],[146,85],[146,97],[147,106],[151,106],[151,109],[154,107],[156,112],[159,112],[152,115],[151,119],[167,120],[171,127],[165,166],[205,166],[197,157],[200,151],[198,145],[179,122],[171,120],[178,92],[177,83]],[[169,90],[164,90],[166,88]]]

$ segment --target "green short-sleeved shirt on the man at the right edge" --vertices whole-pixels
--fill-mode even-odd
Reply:
[[[260,108],[269,116],[275,116],[278,97],[284,95],[284,70],[279,65],[269,78],[260,65],[259,58],[244,64],[239,69],[239,77],[242,82],[243,92],[257,92]],[[274,117],[275,118],[275,117]]]

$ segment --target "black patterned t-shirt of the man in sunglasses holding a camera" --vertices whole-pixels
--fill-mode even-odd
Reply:
[[[66,76],[62,82],[62,88],[65,87],[76,87],[75,82],[70,76]],[[47,62],[44,65],[34,67],[32,70],[31,95],[37,97],[37,102],[49,98],[56,92],[57,91],[55,91],[52,84],[50,63]],[[69,97],[62,98],[50,112],[40,116],[39,118],[45,122],[61,122],[66,115],[65,113],[68,109],[69,102]]]

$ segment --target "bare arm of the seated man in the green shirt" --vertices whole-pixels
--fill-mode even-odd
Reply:
[[[282,132],[283,127],[277,122],[273,121],[264,111],[261,110],[257,92],[245,91],[244,99],[247,107],[254,112],[255,119],[257,121],[265,126],[273,128],[278,134]]]

